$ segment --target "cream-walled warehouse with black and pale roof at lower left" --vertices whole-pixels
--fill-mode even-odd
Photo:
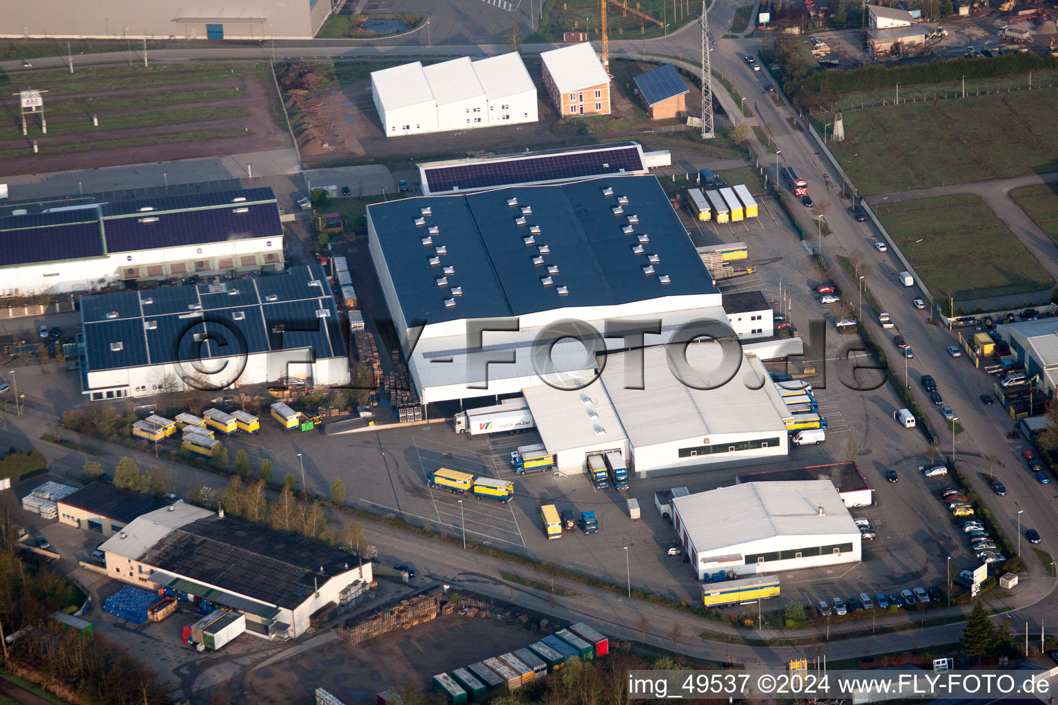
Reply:
[[[296,638],[309,617],[371,582],[371,562],[299,536],[176,504],[138,518],[99,546],[107,573],[194,595],[247,616],[247,631]]]

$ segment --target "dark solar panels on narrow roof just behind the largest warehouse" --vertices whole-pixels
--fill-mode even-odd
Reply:
[[[470,162],[423,169],[430,193],[644,171],[639,146]]]

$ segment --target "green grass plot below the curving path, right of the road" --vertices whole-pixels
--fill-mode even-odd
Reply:
[[[1036,258],[975,196],[874,208],[934,294],[982,298],[1054,285]]]

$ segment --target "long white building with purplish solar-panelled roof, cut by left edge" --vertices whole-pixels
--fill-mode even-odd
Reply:
[[[281,270],[271,188],[16,208],[0,218],[0,295]]]

